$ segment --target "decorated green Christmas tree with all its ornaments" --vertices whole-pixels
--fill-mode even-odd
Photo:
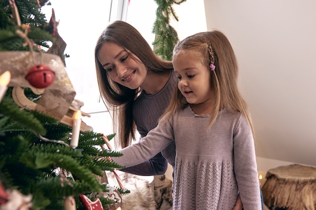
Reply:
[[[104,147],[115,134],[76,118],[81,102],[54,11],[49,21],[41,13],[47,2],[0,0],[0,74],[11,75],[8,90],[0,84],[0,210],[116,209],[129,191],[99,180],[121,167]]]

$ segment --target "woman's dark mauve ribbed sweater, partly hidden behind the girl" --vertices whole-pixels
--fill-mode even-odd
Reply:
[[[170,103],[176,84],[177,77],[171,71],[169,79],[161,91],[153,95],[142,92],[135,100],[133,118],[141,137],[146,136],[151,129],[157,126],[159,118]],[[175,144],[172,143],[164,151],[159,151],[150,160],[120,170],[142,176],[162,175],[166,172],[168,163],[174,167],[175,153]]]

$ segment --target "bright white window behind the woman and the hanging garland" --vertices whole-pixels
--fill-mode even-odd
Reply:
[[[65,53],[70,57],[66,58],[66,70],[76,90],[75,99],[82,101],[84,106],[81,110],[91,115],[82,120],[92,126],[95,132],[111,134],[112,118],[100,99],[96,82],[96,40],[109,22],[123,20],[133,25],[151,45],[154,41],[151,31],[157,5],[148,0],[94,0],[90,4],[75,0],[50,0],[50,3],[51,6],[44,6],[42,12],[49,20],[51,9],[54,8],[56,20],[60,20],[58,31],[67,43]],[[171,25],[177,30],[180,39],[206,30],[203,0],[187,1],[175,5],[174,9],[180,21],[171,18]]]

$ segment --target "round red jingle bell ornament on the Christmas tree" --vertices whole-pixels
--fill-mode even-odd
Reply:
[[[50,69],[49,66],[37,64],[29,69],[25,79],[34,88],[47,88],[54,82],[55,73]]]

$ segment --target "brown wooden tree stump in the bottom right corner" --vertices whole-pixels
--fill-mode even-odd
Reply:
[[[270,169],[262,186],[264,202],[269,207],[287,210],[316,209],[316,168],[292,164]]]

